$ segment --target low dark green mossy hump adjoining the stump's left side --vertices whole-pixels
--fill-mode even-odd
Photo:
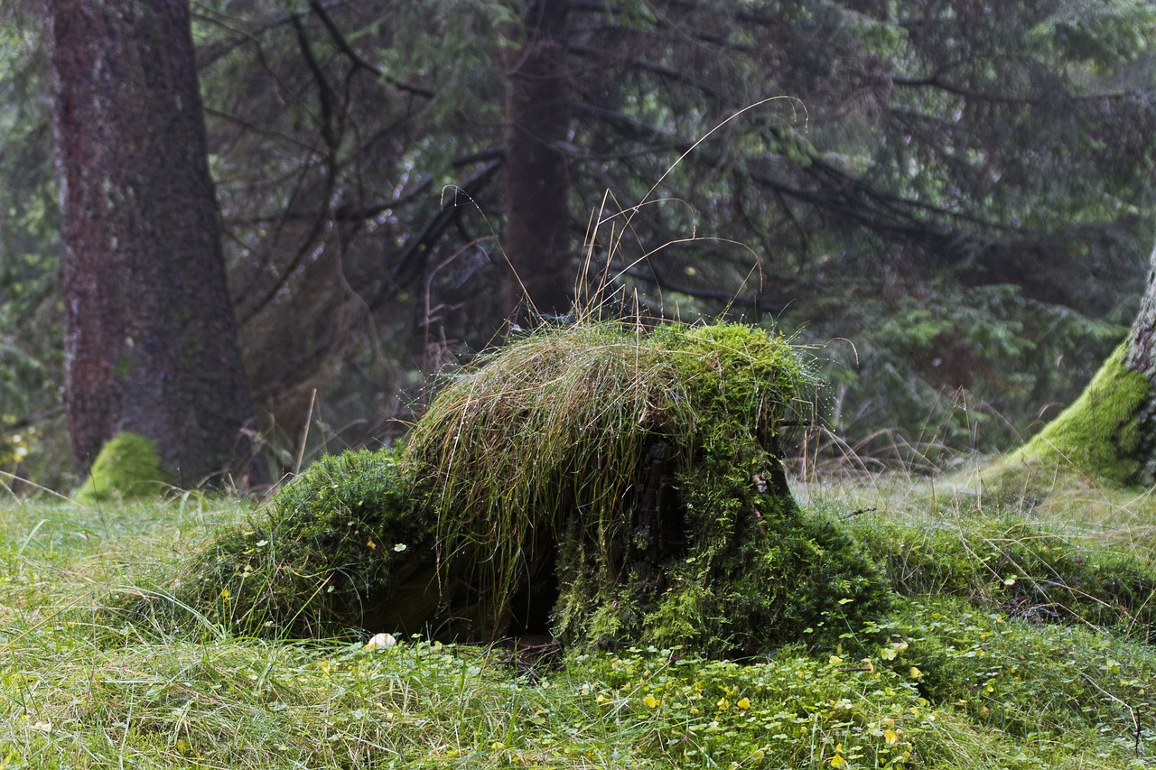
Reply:
[[[176,606],[258,634],[421,630],[402,621],[436,605],[432,526],[412,499],[390,453],[326,457],[198,554],[173,587]]]

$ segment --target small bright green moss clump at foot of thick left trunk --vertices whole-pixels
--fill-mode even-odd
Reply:
[[[161,465],[156,442],[132,432],[110,439],[92,461],[88,479],[73,495],[84,505],[156,495],[176,482]]]

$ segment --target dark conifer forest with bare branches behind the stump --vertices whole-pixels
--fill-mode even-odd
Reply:
[[[523,290],[557,323],[577,299],[773,325],[830,383],[808,450],[941,464],[1054,416],[1144,286],[1146,0],[192,10],[254,431],[282,467],[400,435],[432,375],[538,323]],[[60,488],[43,40],[39,3],[0,8],[0,468]]]

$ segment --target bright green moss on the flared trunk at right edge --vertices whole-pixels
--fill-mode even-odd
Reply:
[[[1135,481],[1141,468],[1136,419],[1149,386],[1143,375],[1125,368],[1124,353],[1124,346],[1117,348],[1083,394],[1011,453],[1005,469],[1067,466],[1113,483]]]

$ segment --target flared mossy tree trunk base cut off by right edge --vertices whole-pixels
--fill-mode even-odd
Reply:
[[[1118,484],[1156,480],[1156,251],[1127,339],[1080,398],[1008,459]]]

